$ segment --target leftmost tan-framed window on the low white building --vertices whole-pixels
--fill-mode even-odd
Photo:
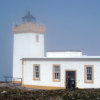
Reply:
[[[33,65],[33,80],[40,80],[40,65]]]

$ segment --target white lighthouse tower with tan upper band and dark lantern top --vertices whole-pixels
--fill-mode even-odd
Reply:
[[[20,25],[13,25],[13,78],[22,78],[22,58],[44,57],[45,26],[36,23],[30,12]]]

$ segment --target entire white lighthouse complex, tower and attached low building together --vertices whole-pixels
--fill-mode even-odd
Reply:
[[[13,26],[13,77],[22,78],[22,86],[29,88],[100,88],[100,56],[49,51],[44,57],[45,26],[30,16],[23,18],[23,24]]]

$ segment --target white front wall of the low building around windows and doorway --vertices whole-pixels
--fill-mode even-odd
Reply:
[[[33,64],[40,64],[40,81],[33,80]],[[53,82],[53,64],[61,64],[61,82]],[[94,83],[84,83],[84,65],[94,65]],[[99,61],[25,61],[24,85],[65,87],[65,70],[76,70],[78,88],[100,88]]]

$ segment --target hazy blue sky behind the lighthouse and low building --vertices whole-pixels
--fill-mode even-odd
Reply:
[[[28,11],[46,27],[45,50],[100,56],[100,0],[0,0],[0,79],[12,76],[12,25]]]

